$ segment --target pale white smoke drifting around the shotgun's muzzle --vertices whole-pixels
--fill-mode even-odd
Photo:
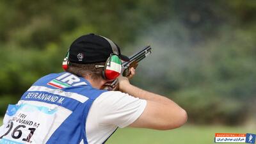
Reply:
[[[145,31],[126,49],[132,54],[144,45],[151,45],[152,54],[142,60],[136,70],[134,83],[153,91],[175,89],[175,84],[186,85],[191,67],[199,67],[200,59],[191,47],[188,29],[177,21],[159,24]],[[136,49],[136,50],[134,50]],[[184,74],[184,77],[180,77]]]

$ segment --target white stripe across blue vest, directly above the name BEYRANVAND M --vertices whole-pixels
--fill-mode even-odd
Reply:
[[[52,89],[52,88],[47,88],[45,86],[31,86],[28,89],[29,92],[33,91],[39,91],[39,92],[47,92],[47,93],[52,93],[54,95],[61,95],[63,97],[69,97],[71,99],[75,99],[79,102],[86,102],[88,100],[88,97],[85,97],[83,95],[79,95],[78,93],[72,93],[72,92],[64,92],[63,90],[60,89]]]

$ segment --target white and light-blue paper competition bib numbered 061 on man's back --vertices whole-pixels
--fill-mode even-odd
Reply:
[[[57,108],[9,104],[0,127],[0,144],[42,144],[54,122]]]

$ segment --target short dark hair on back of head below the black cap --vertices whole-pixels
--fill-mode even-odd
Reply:
[[[105,65],[105,62],[86,64],[69,62],[67,72],[80,77],[92,77],[92,79],[97,80],[102,78],[103,68],[96,68],[95,65]]]

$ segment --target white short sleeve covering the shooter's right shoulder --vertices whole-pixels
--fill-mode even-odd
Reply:
[[[122,92],[104,92],[92,104],[91,113],[98,115],[100,125],[126,127],[143,113],[147,100]]]

